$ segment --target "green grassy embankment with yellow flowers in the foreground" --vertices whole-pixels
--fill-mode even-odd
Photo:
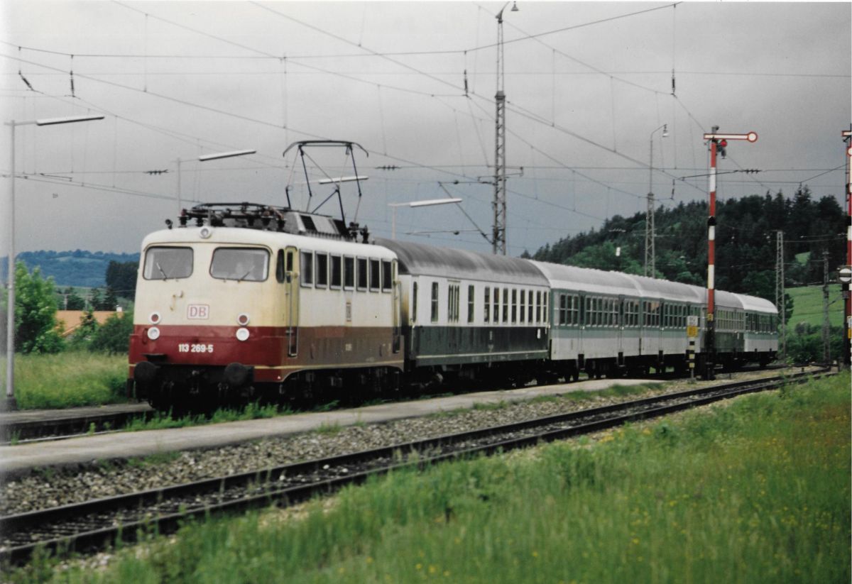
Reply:
[[[189,524],[59,581],[848,582],[849,375]],[[49,564],[15,575],[50,574]]]

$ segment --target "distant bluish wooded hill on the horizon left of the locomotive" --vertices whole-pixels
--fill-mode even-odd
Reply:
[[[40,267],[44,278],[52,276],[57,286],[98,288],[107,282],[107,267],[111,261],[139,261],[139,254],[112,254],[103,251],[25,251],[17,255],[27,269]],[[5,267],[4,267],[5,270]]]

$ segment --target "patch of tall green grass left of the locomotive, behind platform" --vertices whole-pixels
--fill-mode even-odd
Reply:
[[[5,361],[0,375],[5,375]],[[72,408],[127,401],[127,355],[61,352],[14,356],[19,409]]]

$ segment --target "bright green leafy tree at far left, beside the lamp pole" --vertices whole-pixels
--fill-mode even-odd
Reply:
[[[56,330],[56,296],[53,278],[42,278],[36,267],[26,271],[22,261],[14,266],[15,347],[20,352],[60,352],[64,341]]]

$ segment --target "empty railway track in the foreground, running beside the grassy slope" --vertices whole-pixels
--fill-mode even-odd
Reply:
[[[270,504],[286,507],[346,484],[360,484],[371,475],[598,432],[629,421],[808,381],[825,373],[823,370],[691,389],[507,426],[9,515],[0,518],[0,561],[25,563],[37,547],[55,553],[94,552],[115,541],[134,541],[141,533],[170,533],[187,518]]]

